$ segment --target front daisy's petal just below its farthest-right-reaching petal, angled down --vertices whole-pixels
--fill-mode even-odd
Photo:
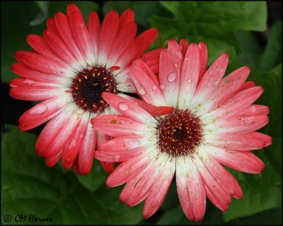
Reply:
[[[224,150],[209,146],[207,152],[219,163],[241,172],[258,174],[265,167],[262,160],[248,151]]]

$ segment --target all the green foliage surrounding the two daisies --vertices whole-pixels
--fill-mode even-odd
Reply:
[[[71,2],[71,1],[69,1]],[[68,1],[13,1],[1,4],[1,81],[16,78],[10,68],[16,62],[13,53],[30,50],[28,34],[42,35],[45,20],[57,11],[66,12]],[[282,21],[267,30],[265,2],[231,1],[105,1],[100,7],[91,1],[72,1],[88,18],[98,11],[101,19],[110,10],[122,13],[132,8],[139,32],[158,28],[158,39],[151,46],[166,47],[169,39],[186,38],[206,42],[209,64],[221,54],[229,54],[227,73],[248,65],[248,81],[262,85],[265,93],[257,104],[270,107],[270,123],[261,129],[272,136],[272,145],[254,153],[265,162],[262,174],[244,174],[230,170],[243,189],[241,200],[233,199],[229,210],[221,212],[207,201],[202,222],[185,218],[178,202],[175,182],[156,215],[141,217],[143,204],[129,208],[118,199],[122,186],[108,189],[107,174],[98,161],[87,176],[79,177],[59,167],[49,169],[35,155],[37,137],[20,132],[16,126],[4,126],[1,141],[1,224],[4,215],[35,215],[52,218],[42,224],[141,224],[141,225],[278,225],[282,224]],[[253,31],[267,32],[265,49]],[[16,141],[16,142],[15,142]],[[11,225],[16,222],[11,221]],[[31,222],[25,222],[30,224]],[[20,224],[20,223],[18,223]],[[21,223],[23,224],[23,222]]]

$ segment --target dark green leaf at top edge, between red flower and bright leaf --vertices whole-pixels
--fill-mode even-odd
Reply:
[[[134,11],[134,21],[144,28],[150,27],[151,15],[162,16],[169,13],[158,1],[105,1],[103,15],[110,10],[115,10],[121,15],[127,8]]]

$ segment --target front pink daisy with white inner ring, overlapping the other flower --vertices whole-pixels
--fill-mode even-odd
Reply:
[[[207,68],[204,43],[168,42],[159,59],[159,77],[141,59],[131,66],[132,81],[151,105],[174,107],[154,117],[134,102],[110,93],[103,98],[123,115],[91,120],[95,129],[116,138],[98,148],[101,161],[122,162],[108,177],[110,187],[125,184],[120,200],[144,203],[144,218],[161,206],[175,175],[178,198],[190,220],[204,216],[206,196],[220,210],[243,192],[222,166],[257,174],[264,163],[250,150],[270,145],[271,138],[255,132],[269,121],[268,107],[252,105],[263,89],[246,82],[243,66],[225,78],[229,56],[224,53]]]

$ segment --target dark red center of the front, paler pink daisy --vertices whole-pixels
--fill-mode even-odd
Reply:
[[[178,110],[168,114],[158,124],[158,148],[161,152],[180,156],[193,153],[200,145],[200,119],[190,111]]]

